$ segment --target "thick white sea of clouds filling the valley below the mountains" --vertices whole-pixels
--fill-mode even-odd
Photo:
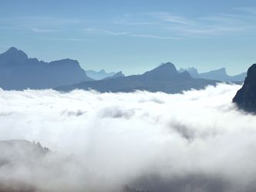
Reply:
[[[54,151],[35,160],[9,155],[0,181],[51,192],[112,192],[124,184],[154,192],[256,191],[256,116],[231,103],[240,88],[0,90],[0,140],[35,140]]]

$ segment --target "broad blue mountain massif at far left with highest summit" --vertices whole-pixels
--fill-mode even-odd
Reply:
[[[91,80],[76,60],[42,62],[14,47],[0,54],[2,89],[48,89]]]

